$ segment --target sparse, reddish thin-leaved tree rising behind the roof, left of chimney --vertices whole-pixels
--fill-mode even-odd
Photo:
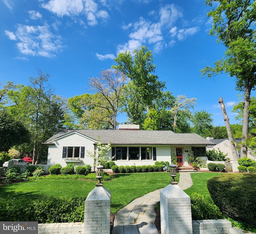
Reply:
[[[118,70],[103,70],[99,77],[89,78],[91,89],[101,94],[107,104],[102,106],[94,103],[94,106],[108,112],[108,122],[112,129],[116,129],[116,117],[120,111],[120,98],[126,81],[126,76]]]

